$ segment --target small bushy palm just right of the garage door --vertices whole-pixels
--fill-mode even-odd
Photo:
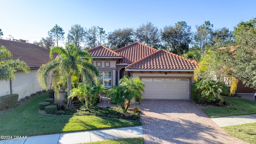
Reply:
[[[221,93],[229,94],[228,87],[225,86],[223,82],[220,80],[208,80],[204,82],[201,80],[196,84],[198,90],[202,91],[202,99],[204,102],[210,102],[211,100],[216,100],[222,104],[224,102],[223,97],[220,95]]]

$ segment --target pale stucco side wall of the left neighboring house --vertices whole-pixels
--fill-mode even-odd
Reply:
[[[37,69],[31,70],[29,74],[26,74],[23,71],[16,72],[15,80],[12,81],[12,90],[13,94],[19,94],[19,100],[43,90],[37,81],[37,71]],[[52,73],[48,76],[48,89],[50,89],[51,76]],[[10,94],[10,81],[0,81],[0,90],[0,96],[6,95],[7,91]]]

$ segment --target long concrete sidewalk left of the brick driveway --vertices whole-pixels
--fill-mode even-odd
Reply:
[[[142,136],[142,126],[133,126],[104,130],[90,130],[84,132],[28,136],[27,139],[0,140],[0,144],[77,144]]]

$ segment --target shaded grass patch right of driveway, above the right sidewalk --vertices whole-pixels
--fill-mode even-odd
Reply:
[[[210,117],[238,116],[256,114],[256,102],[246,98],[224,98],[231,107],[224,108],[203,108],[202,110]]]

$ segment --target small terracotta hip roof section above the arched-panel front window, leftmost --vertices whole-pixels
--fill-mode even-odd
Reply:
[[[98,46],[87,50],[91,56],[100,56],[100,57],[121,57],[120,54],[106,48],[105,46]]]

